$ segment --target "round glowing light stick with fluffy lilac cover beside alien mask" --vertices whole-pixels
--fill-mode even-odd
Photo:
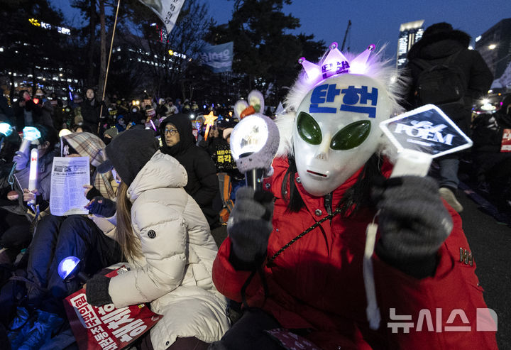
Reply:
[[[277,125],[262,114],[243,118],[231,133],[231,155],[238,170],[245,173],[246,185],[263,190],[263,176],[270,169],[279,146]]]

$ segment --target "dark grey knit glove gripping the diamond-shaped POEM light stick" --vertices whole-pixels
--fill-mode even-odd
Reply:
[[[431,177],[393,177],[373,190],[373,199],[380,209],[378,256],[414,277],[432,275],[436,252],[453,228],[436,181]]]

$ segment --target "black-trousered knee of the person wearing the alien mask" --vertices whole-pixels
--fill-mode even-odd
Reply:
[[[280,328],[272,316],[260,309],[246,310],[220,341],[211,344],[211,350],[282,350],[265,330]]]

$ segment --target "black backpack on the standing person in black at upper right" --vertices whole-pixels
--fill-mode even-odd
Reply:
[[[467,82],[457,65],[452,65],[461,50],[450,55],[444,62],[433,65],[427,60],[417,58],[414,65],[422,69],[416,85],[416,97],[419,106],[424,104],[463,104]]]

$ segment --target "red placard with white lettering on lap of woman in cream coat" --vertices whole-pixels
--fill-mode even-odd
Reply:
[[[114,277],[117,271],[106,276]],[[80,350],[123,349],[163,317],[149,310],[145,304],[120,309],[112,304],[101,307],[89,305],[83,288],[66,297],[64,307]]]

